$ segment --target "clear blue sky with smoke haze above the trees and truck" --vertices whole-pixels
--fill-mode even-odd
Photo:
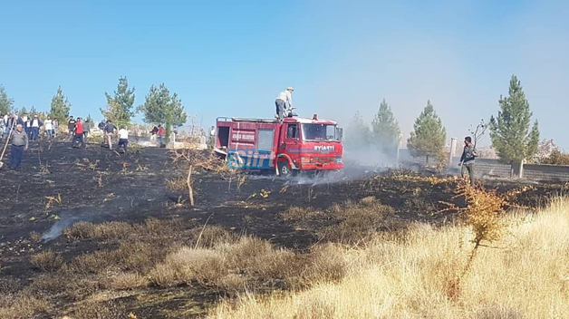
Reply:
[[[462,138],[497,114],[513,73],[542,138],[569,150],[567,1],[5,1],[0,83],[16,106],[100,119],[121,75],[136,105],[151,84],[178,92],[204,127],[272,117],[294,86],[300,115],[371,121],[381,99],[405,136],[430,100]],[[140,120],[140,116],[138,117]]]

